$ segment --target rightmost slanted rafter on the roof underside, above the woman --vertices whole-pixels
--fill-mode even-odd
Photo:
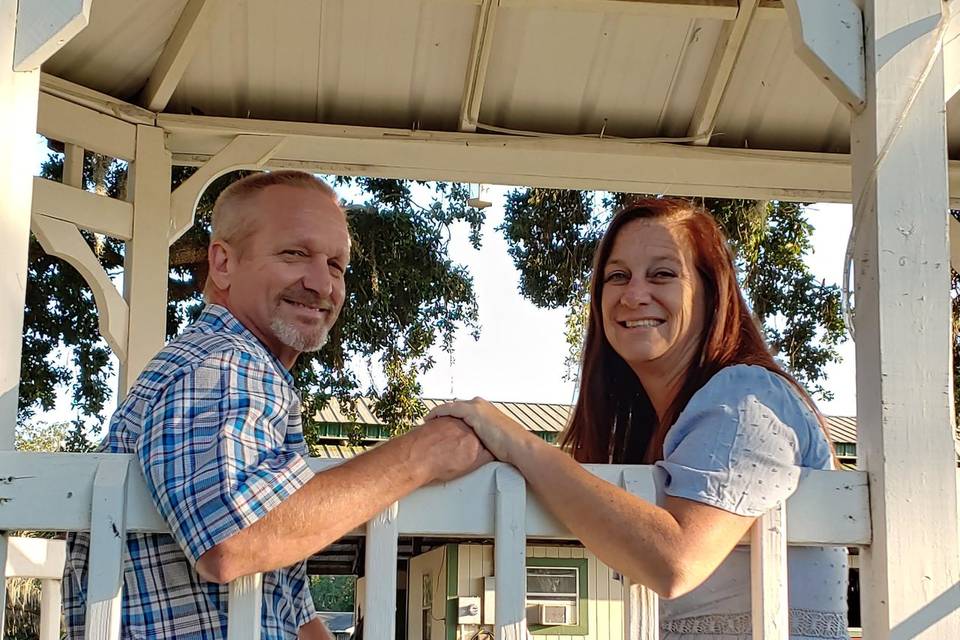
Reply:
[[[688,136],[703,136],[694,141],[695,144],[706,145],[710,142],[717,121],[717,112],[723,94],[727,91],[727,84],[733,69],[740,57],[743,43],[747,39],[747,31],[753,20],[760,0],[742,0],[735,20],[726,22],[720,29],[720,37],[713,52],[713,59],[707,69],[707,75],[700,89],[700,97],[687,129]]]

